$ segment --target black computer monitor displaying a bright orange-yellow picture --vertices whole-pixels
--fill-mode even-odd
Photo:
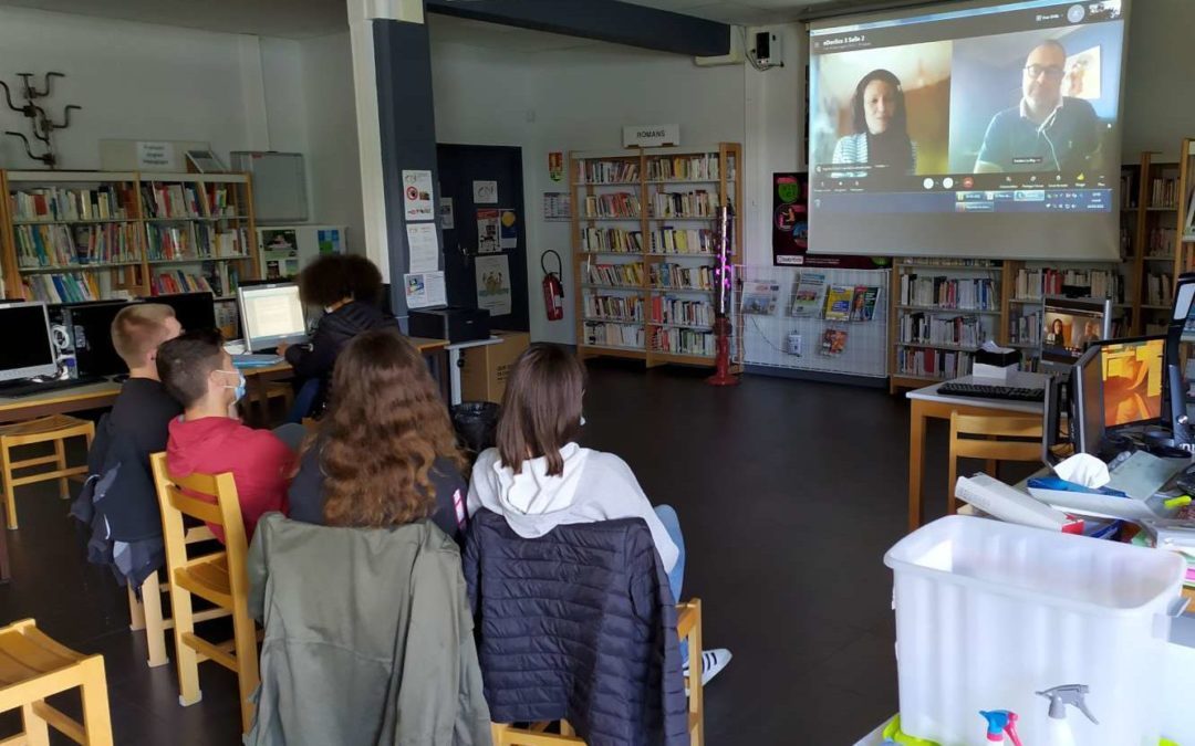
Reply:
[[[1076,364],[1076,450],[1098,454],[1107,433],[1157,424],[1163,417],[1166,339],[1092,344]]]

